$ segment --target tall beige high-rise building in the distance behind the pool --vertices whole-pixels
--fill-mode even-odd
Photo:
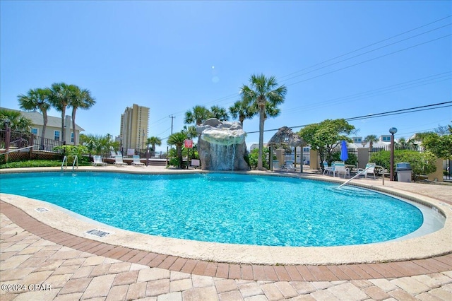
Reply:
[[[145,149],[148,138],[149,108],[133,104],[126,107],[121,114],[121,139],[122,151],[129,149]]]

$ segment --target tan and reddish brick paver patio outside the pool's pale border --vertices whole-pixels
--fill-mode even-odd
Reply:
[[[385,186],[451,201],[443,185]],[[4,202],[0,211],[2,301],[452,300],[452,254],[338,266],[222,264],[75,237]]]

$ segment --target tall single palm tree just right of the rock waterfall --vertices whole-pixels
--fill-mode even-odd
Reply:
[[[266,118],[267,104],[277,109],[282,104],[287,93],[285,85],[278,86],[278,82],[274,76],[266,78],[263,74],[252,75],[249,79],[250,86],[243,85],[240,91],[243,100],[257,108],[259,113],[259,152],[258,152],[258,170],[263,170],[262,153],[263,153],[263,123]]]

